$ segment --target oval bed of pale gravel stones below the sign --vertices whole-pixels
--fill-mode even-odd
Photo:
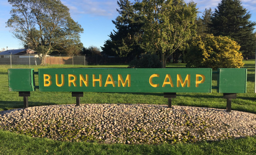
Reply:
[[[0,112],[0,128],[98,143],[177,143],[256,135],[256,114],[142,104],[49,105]]]

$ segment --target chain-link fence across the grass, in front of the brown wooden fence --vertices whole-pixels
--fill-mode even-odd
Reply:
[[[89,56],[64,56],[49,55],[45,58],[46,65],[104,65],[104,64],[128,64],[130,57],[114,57],[109,55]],[[0,65],[40,65],[41,60],[37,55],[0,55]]]

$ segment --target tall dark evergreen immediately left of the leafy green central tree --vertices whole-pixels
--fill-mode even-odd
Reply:
[[[119,57],[138,56],[144,53],[142,43],[142,20],[135,12],[130,0],[119,0],[117,9],[120,14],[112,22],[117,31],[110,33],[110,39],[105,41],[102,52]]]

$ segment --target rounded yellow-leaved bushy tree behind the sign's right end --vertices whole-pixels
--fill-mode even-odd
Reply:
[[[244,66],[238,43],[223,36],[194,37],[186,54],[187,66],[197,68],[240,68]]]

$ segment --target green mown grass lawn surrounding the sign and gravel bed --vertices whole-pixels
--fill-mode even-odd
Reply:
[[[237,99],[232,100],[232,110],[256,113],[256,94],[254,93],[255,61],[244,61],[248,68],[247,93],[237,94]],[[59,68],[52,66],[31,66],[38,68]],[[61,67],[86,67],[86,68],[116,68],[126,65],[113,66],[72,66]],[[168,64],[167,68],[185,67],[185,64]],[[23,107],[23,98],[18,97],[17,92],[8,92],[8,65],[0,65],[0,111]],[[28,65],[12,65],[12,68],[29,68]],[[37,78],[37,77],[36,77]],[[216,77],[213,77],[213,85],[216,85]],[[37,84],[38,85],[38,84]],[[173,99],[173,105],[211,107],[217,109],[226,108],[226,100],[223,94],[216,93],[178,93]],[[28,98],[29,106],[75,104],[75,97],[71,93],[59,92],[31,92]],[[165,104],[167,98],[163,93],[84,93],[81,103],[130,103],[130,104]],[[159,145],[124,145],[124,144],[98,144],[98,143],[69,143],[47,139],[31,138],[0,130],[0,155],[13,154],[256,154],[256,137],[247,137],[238,140],[222,140],[218,142],[178,143]]]

